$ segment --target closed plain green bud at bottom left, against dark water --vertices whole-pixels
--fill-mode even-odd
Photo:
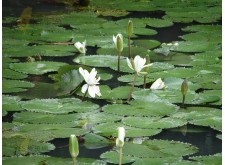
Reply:
[[[72,158],[76,158],[79,154],[79,144],[76,135],[70,135],[69,151]]]

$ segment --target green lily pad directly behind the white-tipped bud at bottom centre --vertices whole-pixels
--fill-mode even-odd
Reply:
[[[119,122],[99,124],[94,126],[92,130],[94,131],[95,134],[99,134],[101,136],[117,137],[118,134],[117,128],[121,126],[124,127],[126,130],[126,137],[153,136],[162,131],[161,129],[141,129],[130,127]]]

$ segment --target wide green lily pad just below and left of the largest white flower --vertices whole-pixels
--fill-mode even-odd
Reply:
[[[66,114],[69,112],[88,112],[99,106],[91,102],[81,102],[78,99],[70,99],[69,101],[66,99],[33,99],[23,102],[22,107],[32,112]]]

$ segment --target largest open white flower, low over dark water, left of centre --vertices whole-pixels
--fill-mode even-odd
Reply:
[[[81,92],[85,93],[88,90],[89,95],[93,98],[95,97],[95,94],[101,96],[100,89],[98,86],[96,86],[99,84],[100,77],[96,79],[97,71],[95,68],[93,68],[89,73],[87,70],[80,67],[79,72],[87,83],[82,86]]]

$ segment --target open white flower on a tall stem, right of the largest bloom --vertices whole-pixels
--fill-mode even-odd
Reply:
[[[129,58],[127,58],[127,65],[134,71],[138,73],[140,73],[140,71],[143,68],[149,67],[152,65],[152,63],[145,65],[146,63],[146,59],[145,58],[141,58],[139,55],[134,57],[134,64],[132,65],[131,61],[129,60]]]

